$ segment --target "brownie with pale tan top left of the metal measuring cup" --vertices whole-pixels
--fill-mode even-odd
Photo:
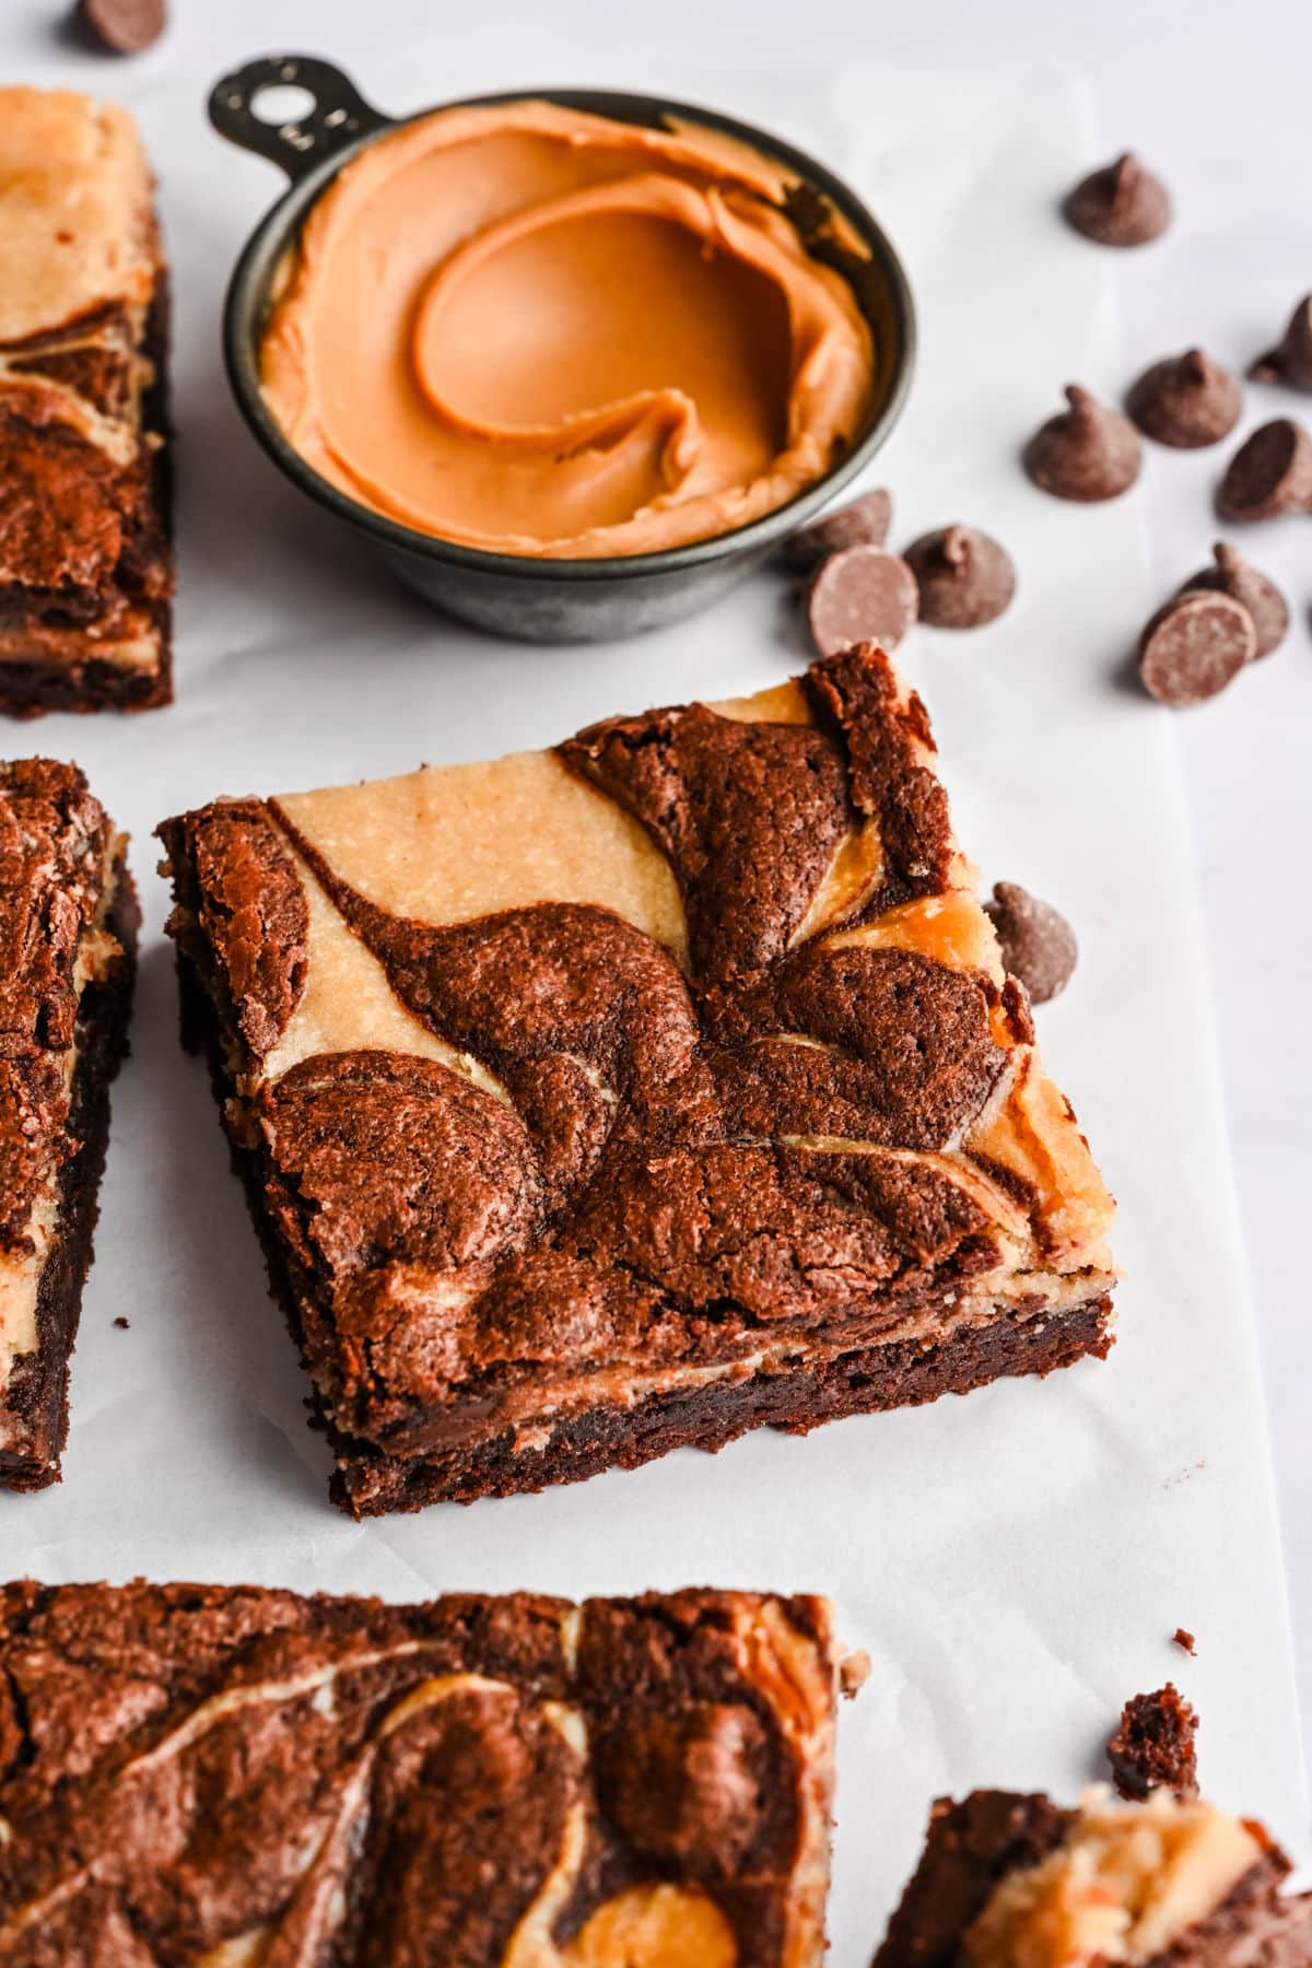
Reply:
[[[0,89],[0,710],[169,703],[165,340],[132,118]]]

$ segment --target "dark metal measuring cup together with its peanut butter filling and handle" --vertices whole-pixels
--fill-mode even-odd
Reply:
[[[262,120],[297,85],[313,110]],[[887,437],[915,309],[824,165],[714,110],[517,91],[391,118],[330,63],[210,94],[289,189],[224,352],[277,466],[448,614],[531,642],[704,606]]]

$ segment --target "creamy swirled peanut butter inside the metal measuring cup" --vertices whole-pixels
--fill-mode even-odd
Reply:
[[[311,211],[268,405],[317,472],[441,539],[602,559],[730,531],[820,478],[871,394],[856,295],[787,191],[692,124],[437,110]]]

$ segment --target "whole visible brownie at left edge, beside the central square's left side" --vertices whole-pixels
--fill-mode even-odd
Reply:
[[[0,1488],[59,1480],[136,931],[83,773],[0,764]]]

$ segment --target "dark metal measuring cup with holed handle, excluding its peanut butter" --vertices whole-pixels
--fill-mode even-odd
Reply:
[[[285,124],[264,122],[254,114],[262,91],[287,85],[313,94],[315,106],[309,114]],[[875,388],[865,425],[852,451],[824,478],[777,512],[730,533],[716,533],[686,547],[665,547],[659,553],[600,561],[543,561],[460,547],[388,520],[321,478],[291,449],[260,392],[260,335],[269,293],[311,205],[342,163],[382,132],[413,118],[384,116],[364,100],[340,69],[313,55],[268,55],[250,61],[234,75],[224,75],[210,92],[209,112],[218,134],[281,163],[291,179],[291,187],[248,240],[232,274],[224,307],[224,356],[242,415],[273,462],[303,492],[362,533],[382,559],[431,602],[500,636],[517,636],[525,642],[596,642],[631,636],[704,608],[742,581],[785,533],[810,520],[873,459],[897,421],[911,382],[915,307],[903,264],[862,201],[824,165],[767,132],[685,102],[600,89],[515,89],[462,100],[490,104],[525,98],[545,98],[645,128],[663,128],[667,118],[679,116],[740,138],[797,173],[791,216],[812,256],[836,266],[848,277],[875,342]],[[435,108],[450,106],[454,104],[435,104]],[[431,112],[425,108],[415,114]],[[834,242],[834,213],[856,232],[869,258],[844,252]]]

